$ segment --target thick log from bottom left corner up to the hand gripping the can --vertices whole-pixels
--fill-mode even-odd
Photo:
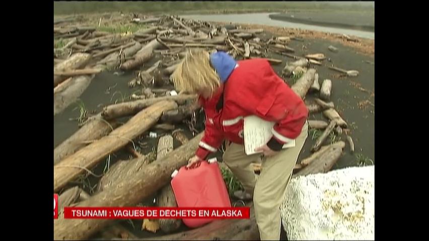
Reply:
[[[132,176],[86,201],[78,207],[131,206],[154,194],[171,180],[171,173],[186,165],[200,142],[201,133],[185,145],[172,151],[161,160],[154,161]],[[231,220],[231,219],[229,219]],[[111,219],[63,219],[54,220],[54,239],[87,239],[111,222]]]

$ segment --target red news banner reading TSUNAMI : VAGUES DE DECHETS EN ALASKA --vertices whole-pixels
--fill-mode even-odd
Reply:
[[[64,207],[64,218],[142,219],[142,218],[250,218],[249,207]]]

